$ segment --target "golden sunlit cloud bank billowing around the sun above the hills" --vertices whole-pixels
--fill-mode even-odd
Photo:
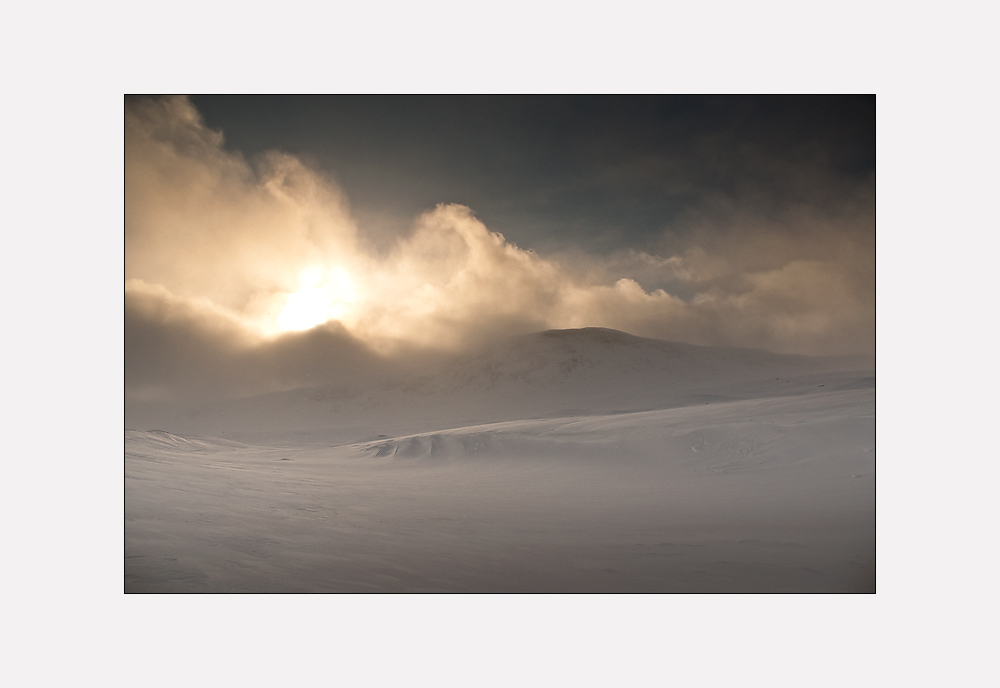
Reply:
[[[584,326],[871,353],[874,199],[843,208],[689,218],[686,243],[662,251],[540,256],[442,204],[376,248],[321,171],[278,152],[251,164],[185,98],[127,101],[126,383],[155,390],[182,365],[232,382],[247,375],[240,360],[291,385],[308,366],[261,352],[370,366],[401,348]],[[314,327],[311,343],[294,334]],[[323,347],[339,353],[323,359]]]

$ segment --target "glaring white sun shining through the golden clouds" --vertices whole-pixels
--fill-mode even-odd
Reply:
[[[283,332],[300,332],[344,316],[355,298],[354,283],[341,268],[308,268],[299,277],[302,287],[288,295],[278,315]]]

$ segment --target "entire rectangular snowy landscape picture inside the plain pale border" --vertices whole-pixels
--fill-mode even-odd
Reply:
[[[126,592],[875,592],[871,98],[125,99]]]

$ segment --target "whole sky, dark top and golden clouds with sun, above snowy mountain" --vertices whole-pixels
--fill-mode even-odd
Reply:
[[[125,98],[127,396],[588,326],[873,354],[874,96]]]

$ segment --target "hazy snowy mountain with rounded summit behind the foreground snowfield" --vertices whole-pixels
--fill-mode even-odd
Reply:
[[[874,359],[704,347],[584,328],[512,337],[431,370],[368,384],[163,408],[145,418],[140,412],[130,419],[126,409],[126,424],[228,437],[311,430],[363,439],[477,422],[644,411],[859,386],[874,386]]]

